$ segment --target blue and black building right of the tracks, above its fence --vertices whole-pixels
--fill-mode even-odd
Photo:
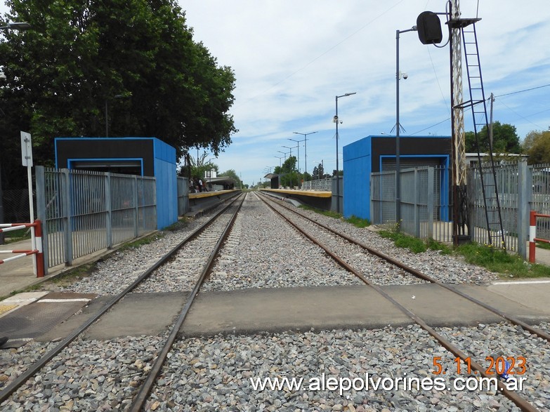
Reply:
[[[451,149],[450,136],[400,136],[400,168],[446,167],[438,191],[448,199]],[[344,146],[343,215],[371,220],[370,174],[394,170],[395,136],[370,135]]]

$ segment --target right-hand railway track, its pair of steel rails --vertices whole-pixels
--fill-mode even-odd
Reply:
[[[356,267],[353,267],[353,266],[349,265],[346,262],[346,258],[342,258],[341,255],[337,255],[336,253],[334,253],[329,246],[326,246],[326,244],[332,243],[333,247],[334,247],[334,242],[330,242],[330,240],[329,240],[330,236],[329,237],[322,236],[322,235],[320,235],[320,233],[322,231],[321,232],[317,231],[316,232],[317,238],[316,238],[312,234],[313,231],[308,230],[308,228],[306,228],[306,226],[308,224],[317,225],[318,227],[322,228],[322,230],[326,231],[327,233],[335,235],[336,237],[340,237],[341,239],[345,239],[346,241],[348,241],[350,244],[352,244],[354,246],[360,246],[360,248],[364,249],[365,251],[367,251],[371,255],[377,256],[377,258],[381,258],[383,260],[386,260],[386,262],[390,263],[391,265],[395,265],[395,267],[399,267],[400,269],[405,270],[405,272],[407,272],[408,274],[412,274],[412,276],[414,276],[414,278],[416,278],[416,279],[421,279],[423,281],[429,281],[433,284],[437,284],[441,288],[445,288],[449,291],[452,291],[453,293],[457,293],[462,298],[466,298],[466,299],[470,300],[473,304],[480,305],[480,306],[484,307],[486,310],[490,310],[490,312],[493,312],[493,313],[499,315],[500,317],[502,317],[506,321],[509,321],[511,324],[516,325],[516,326],[521,326],[523,329],[525,329],[525,330],[529,331],[530,333],[532,333],[532,335],[534,335],[535,337],[542,338],[542,339],[546,340],[546,342],[550,341],[550,334],[546,333],[546,331],[542,331],[541,329],[530,326],[529,324],[526,324],[525,322],[520,321],[519,319],[516,319],[514,317],[510,317],[509,315],[504,314],[502,311],[497,310],[496,308],[491,307],[490,305],[487,305],[483,302],[480,302],[480,300],[472,298],[471,296],[466,295],[466,293],[462,293],[461,291],[458,291],[452,285],[446,285],[446,284],[443,284],[443,283],[441,283],[440,281],[438,281],[436,279],[433,279],[432,277],[428,277],[426,274],[423,274],[423,273],[419,272],[418,270],[414,270],[412,267],[408,267],[407,265],[401,263],[400,261],[398,261],[394,258],[391,258],[388,255],[384,255],[384,253],[381,253],[381,252],[377,251],[374,248],[371,248],[369,246],[361,244],[359,241],[357,241],[355,239],[352,239],[351,237],[348,237],[345,234],[339,233],[336,230],[333,230],[333,229],[327,227],[326,225],[322,225],[321,223],[316,222],[315,220],[312,220],[312,219],[306,217],[306,215],[303,215],[302,213],[298,213],[298,212],[292,210],[292,208],[289,208],[288,206],[284,206],[282,204],[277,204],[277,206],[275,206],[275,201],[268,200],[267,198],[268,197],[266,195],[261,196],[261,199],[263,201],[265,201],[266,204],[268,204],[268,206],[270,206],[270,208],[273,209],[273,211],[275,211],[280,216],[282,216],[282,218],[286,219],[292,226],[294,226],[296,228],[296,230],[299,230],[299,232],[301,232],[304,236],[306,236],[308,239],[310,239],[310,241],[313,241],[315,244],[317,244],[318,246],[323,248],[327,254],[329,254],[334,260],[336,260],[336,262],[339,263],[339,265],[341,265],[342,267],[345,267],[346,270],[348,270],[349,272],[352,272],[353,274],[355,274],[355,276],[357,276],[359,279],[361,279],[365,284],[367,284],[368,286],[371,286],[372,288],[374,288],[378,293],[383,295],[384,298],[386,298],[391,303],[393,303],[393,305],[398,307],[402,312],[407,314],[407,316],[409,316],[410,319],[412,319],[421,328],[423,328],[425,331],[427,331],[434,339],[436,339],[438,341],[438,343],[440,343],[440,345],[442,345],[447,350],[452,352],[452,354],[455,357],[457,357],[455,359],[457,359],[457,361],[458,361],[458,359],[460,359],[460,361],[462,361],[464,363],[465,367],[468,368],[468,371],[473,371],[474,374],[479,375],[479,376],[483,376],[483,378],[487,378],[487,379],[494,378],[494,376],[490,375],[490,372],[492,372],[491,371],[492,366],[487,368],[487,366],[482,366],[480,363],[478,363],[476,361],[473,361],[471,354],[468,354],[468,353],[464,352],[463,350],[459,349],[459,347],[457,347],[457,345],[454,345],[453,343],[451,343],[450,340],[445,338],[445,336],[443,336],[441,333],[438,333],[438,331],[436,331],[435,328],[432,328],[431,326],[428,326],[428,324],[426,324],[426,322],[423,319],[418,317],[417,314],[414,314],[414,312],[412,312],[407,307],[405,307],[404,305],[399,303],[397,300],[392,298],[392,296],[390,294],[386,293],[386,291],[384,291],[374,281],[367,279],[367,277],[365,277],[365,274],[363,274],[361,270],[359,270]],[[306,225],[303,224],[303,221],[302,222],[296,222],[296,220],[292,220],[292,218],[289,218],[288,213],[284,213],[284,212],[282,212],[282,210],[284,210],[285,212],[292,213],[292,215],[294,215],[294,216],[299,215],[301,218],[306,220]],[[322,238],[322,241],[319,240],[320,237]],[[353,253],[353,251],[352,251],[352,253]],[[514,366],[514,363],[516,362],[515,358],[506,357],[506,356],[502,357],[502,355],[500,357],[494,357],[494,356],[491,356],[491,355],[486,355],[486,357],[488,358],[488,360],[490,360],[492,362],[492,364],[495,364],[497,362],[495,360],[497,358],[499,359],[499,362],[500,362],[501,359],[506,359],[507,358],[510,365],[505,367],[504,371],[506,373],[509,372],[509,371],[514,373],[515,369],[513,368],[513,366]],[[518,363],[521,364],[520,368],[522,368],[522,369],[520,371],[525,372],[525,368],[524,368],[525,363],[526,363],[525,357],[520,357],[520,361]],[[489,372],[489,373],[487,373],[487,372]],[[493,371],[493,374],[494,374],[494,371]],[[498,381],[497,384],[498,384],[499,391],[502,394],[504,394],[506,397],[511,399],[511,401],[513,401],[514,404],[516,404],[519,408],[521,408],[522,411],[537,411],[537,408],[532,406],[532,404],[530,404],[530,402],[527,399],[525,399],[523,397],[520,397],[513,390],[508,390],[506,385],[504,383],[502,383],[502,381]]]

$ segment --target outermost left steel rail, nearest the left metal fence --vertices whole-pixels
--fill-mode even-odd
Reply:
[[[143,272],[143,274],[141,274],[140,277],[138,277],[129,286],[127,286],[124,289],[124,291],[122,291],[118,295],[114,296],[114,298],[112,298],[108,303],[106,303],[105,306],[103,306],[96,314],[93,315],[93,317],[91,317],[91,319],[84,322],[84,324],[82,324],[79,328],[77,328],[75,331],[70,333],[70,335],[68,335],[67,338],[63,339],[57,346],[53,347],[49,352],[44,354],[44,356],[42,356],[40,359],[38,359],[36,362],[34,362],[34,364],[32,364],[32,366],[27,368],[27,370],[25,372],[23,372],[20,376],[15,378],[15,380],[13,380],[13,382],[11,382],[8,386],[6,386],[6,388],[4,388],[4,390],[1,390],[0,391],[0,403],[4,400],[8,399],[8,397],[11,394],[13,394],[13,392],[15,392],[15,390],[18,390],[18,388],[23,383],[25,383],[29,378],[34,376],[35,373],[40,371],[40,369],[43,368],[49,361],[51,361],[51,359],[53,359],[53,357],[55,357],[55,355],[57,355],[59,352],[64,350],[65,347],[69,346],[70,343],[72,343],[72,341],[74,339],[76,339],[79,335],[81,335],[81,333],[86,331],[87,328],[89,328],[93,323],[95,323],[98,319],[100,319],[100,317],[102,317],[103,314],[105,314],[116,303],[118,303],[119,300],[124,298],[125,295],[130,293],[142,281],[144,281],[145,279],[150,277],[150,274],[152,274],[152,272],[154,272],[160,266],[164,265],[164,263],[166,263],[168,260],[170,260],[173,257],[173,255],[175,255],[178,252],[178,250],[181,249],[181,247],[184,244],[186,244],[191,239],[197,237],[197,235],[199,233],[203,232],[207,227],[209,227],[209,225],[211,225],[211,223],[214,222],[214,220],[216,220],[216,218],[218,218],[219,215],[221,215],[223,212],[225,212],[225,210],[230,208],[230,206],[235,201],[237,201],[237,199],[238,199],[238,197],[233,199],[233,201],[231,201],[226,206],[221,208],[220,211],[218,211],[214,215],[212,215],[211,218],[209,218],[209,220],[207,220],[207,222],[204,222],[204,224],[197,227],[197,229],[195,229],[193,232],[188,234],[188,236],[185,237],[185,239],[183,239],[180,243],[178,243],[171,251],[169,251],[164,256],[162,256],[162,258],[159,258],[159,260],[157,260],[157,262],[155,262],[148,270]]]

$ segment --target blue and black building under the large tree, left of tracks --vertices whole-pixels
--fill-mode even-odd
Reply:
[[[178,221],[176,149],[157,138],[55,138],[55,167],[155,176],[157,229]]]

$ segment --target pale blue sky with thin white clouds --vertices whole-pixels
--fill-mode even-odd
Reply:
[[[289,156],[284,146],[296,156],[299,145],[302,173],[321,162],[332,173],[336,95],[357,93],[338,100],[340,168],[343,146],[395,134],[395,32],[416,25],[423,11],[445,11],[443,0],[178,1],[195,41],[236,77],[230,114],[239,131],[217,159],[207,159],[249,185]],[[547,1],[461,0],[460,6],[463,18],[482,19],[476,31],[485,97],[496,96],[493,119],[516,126],[522,140],[550,128]],[[400,70],[408,74],[400,80],[401,135],[451,133],[450,54],[441,18],[443,47],[421,44],[417,32],[400,34]],[[465,67],[463,76],[468,100]],[[471,113],[464,119],[473,131]],[[294,142],[289,139],[304,139],[294,132],[317,133]]]

